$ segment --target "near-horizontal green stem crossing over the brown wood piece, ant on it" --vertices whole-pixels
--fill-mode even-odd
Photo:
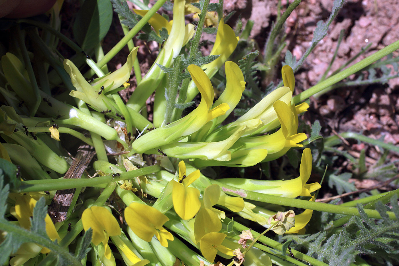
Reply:
[[[112,175],[106,175],[103,177],[93,177],[90,179],[53,179],[51,180],[51,183],[49,182],[49,180],[30,180],[22,182],[20,192],[23,193],[32,191],[73,189],[77,187],[94,187],[95,185],[99,184],[131,179],[134,177],[139,177],[141,175],[148,175],[150,173],[158,172],[159,170],[159,165],[152,165],[149,167],[143,167],[137,170],[128,171],[126,173],[121,173],[120,177],[117,178],[112,177]]]

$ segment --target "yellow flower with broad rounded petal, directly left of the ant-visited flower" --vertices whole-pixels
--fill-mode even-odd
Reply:
[[[164,247],[168,247],[168,240],[173,241],[172,234],[162,227],[169,218],[156,208],[132,202],[125,208],[124,216],[128,226],[142,240],[150,242],[155,234]]]

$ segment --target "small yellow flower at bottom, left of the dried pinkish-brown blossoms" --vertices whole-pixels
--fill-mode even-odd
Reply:
[[[209,232],[202,236],[202,238],[199,240],[199,249],[206,260],[215,260],[218,250],[223,254],[233,256],[233,250],[222,245],[222,242],[226,236],[226,234],[219,232]]]

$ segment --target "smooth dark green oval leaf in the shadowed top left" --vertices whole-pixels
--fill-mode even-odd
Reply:
[[[73,24],[73,35],[83,50],[90,50],[103,40],[111,22],[109,0],[85,0]]]

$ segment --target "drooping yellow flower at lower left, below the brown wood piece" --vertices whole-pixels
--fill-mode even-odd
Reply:
[[[105,207],[92,206],[82,213],[83,228],[87,231],[89,228],[93,230],[91,242],[95,246],[100,243],[104,245],[105,258],[111,258],[111,248],[108,246],[110,236],[119,236],[120,227],[117,219]]]

